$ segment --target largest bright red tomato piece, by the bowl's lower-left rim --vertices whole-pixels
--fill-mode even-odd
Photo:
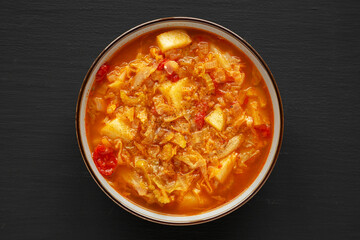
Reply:
[[[93,160],[99,172],[104,176],[110,176],[117,165],[114,150],[102,144],[96,146],[93,154]]]

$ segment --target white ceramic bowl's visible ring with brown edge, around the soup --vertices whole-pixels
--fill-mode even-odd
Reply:
[[[140,35],[151,32],[153,30],[167,28],[167,27],[191,27],[197,29],[203,29],[208,32],[215,33],[238,47],[241,51],[243,51],[250,60],[256,65],[261,75],[263,76],[266,85],[269,89],[269,93],[272,100],[272,106],[274,111],[274,135],[271,144],[270,153],[268,158],[255,181],[250,185],[248,189],[239,194],[236,198],[227,202],[226,204],[217,207],[213,210],[210,210],[205,213],[201,213],[198,215],[192,216],[178,216],[178,215],[170,215],[170,214],[161,214],[149,209],[145,209],[133,202],[127,200],[123,196],[121,196],[117,191],[115,191],[109,183],[105,180],[105,178],[99,173],[97,170],[94,161],[91,157],[90,148],[86,138],[85,131],[85,112],[86,112],[86,103],[89,96],[89,92],[91,86],[95,79],[95,74],[98,71],[99,67],[107,61],[107,59],[119,48],[121,48],[128,41],[137,38]],[[116,38],[112,43],[110,43],[95,59],[93,64],[91,65],[88,73],[85,76],[84,82],[81,86],[79,98],[77,102],[76,109],[76,133],[78,138],[78,143],[80,147],[80,151],[82,153],[84,162],[96,181],[99,187],[106,193],[106,195],[111,198],[115,203],[119,206],[123,207],[125,210],[139,216],[141,218],[147,219],[149,221],[162,223],[162,224],[170,224],[170,225],[190,225],[190,224],[198,224],[208,222],[217,218],[220,218],[235,209],[239,208],[243,204],[245,204],[252,196],[256,194],[257,191],[262,187],[265,183],[266,179],[269,177],[275,162],[276,158],[280,151],[282,135],[283,135],[283,109],[281,104],[281,98],[279,94],[279,90],[276,86],[275,80],[268,68],[265,64],[264,60],[260,57],[260,55],[241,37],[233,33],[232,31],[226,29],[223,26],[220,26],[216,23],[212,23],[206,20],[197,19],[197,18],[189,18],[189,17],[171,17],[171,18],[162,18],[153,20],[150,22],[146,22],[139,26],[130,29],[125,32],[118,38]]]

